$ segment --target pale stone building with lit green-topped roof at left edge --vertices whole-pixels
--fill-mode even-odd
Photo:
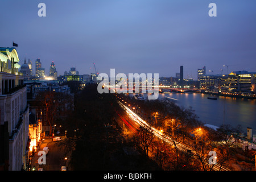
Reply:
[[[30,109],[15,48],[0,47],[0,67],[0,171],[20,171],[27,166]]]

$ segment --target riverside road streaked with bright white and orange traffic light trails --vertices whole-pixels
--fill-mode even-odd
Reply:
[[[127,107],[126,105],[122,104],[122,102],[118,101],[118,104],[129,114],[129,115],[132,115],[133,116],[133,120],[135,122],[137,122],[139,125],[141,125],[142,127],[148,129],[148,130],[151,130],[153,132],[153,134],[158,137],[159,139],[162,139],[164,140],[165,142],[167,143],[170,143],[172,144],[174,141],[164,135],[161,131],[155,129],[154,127],[148,125],[148,123],[146,121],[144,121],[141,117],[139,117],[139,115],[137,115],[136,113],[133,112],[133,110],[131,110],[129,107]],[[180,150],[183,150],[183,151],[187,151],[187,150],[190,150],[192,152],[192,154],[196,154],[196,151],[195,150],[192,150],[191,148],[185,146],[184,144],[181,144],[181,143],[177,143],[177,146],[179,147]],[[207,160],[207,157],[205,156],[201,156],[205,161],[208,161]],[[214,171],[219,171],[220,170],[220,164],[215,164],[213,166],[213,170]],[[225,167],[221,167],[221,171],[230,171],[230,169],[228,168],[225,168]]]

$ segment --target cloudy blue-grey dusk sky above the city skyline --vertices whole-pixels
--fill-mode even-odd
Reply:
[[[46,4],[46,17],[38,4]],[[210,17],[209,3],[217,17]],[[256,1],[81,0],[13,1],[0,6],[0,47],[19,45],[20,65],[35,60],[58,75],[76,67],[80,75],[159,73],[197,78],[197,68],[220,74],[256,72]]]

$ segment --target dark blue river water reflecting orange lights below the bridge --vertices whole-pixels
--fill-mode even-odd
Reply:
[[[210,100],[208,97],[217,97]],[[256,100],[210,96],[201,93],[159,93],[158,99],[167,98],[184,108],[192,107],[199,120],[214,126],[242,126],[243,133],[251,127],[256,134]]]

